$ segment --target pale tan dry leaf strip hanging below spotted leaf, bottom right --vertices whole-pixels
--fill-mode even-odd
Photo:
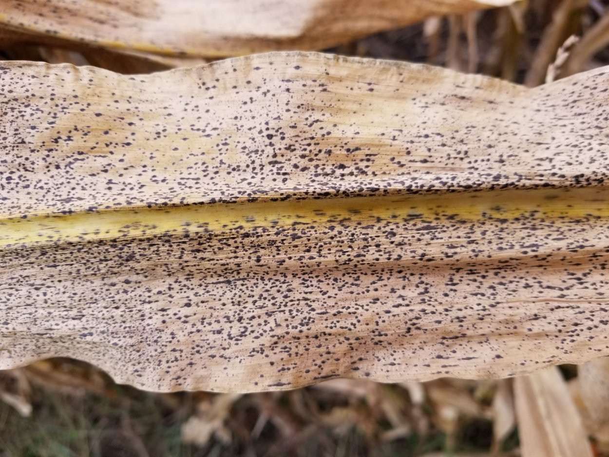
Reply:
[[[582,419],[557,367],[514,381],[523,456],[592,457]]]

